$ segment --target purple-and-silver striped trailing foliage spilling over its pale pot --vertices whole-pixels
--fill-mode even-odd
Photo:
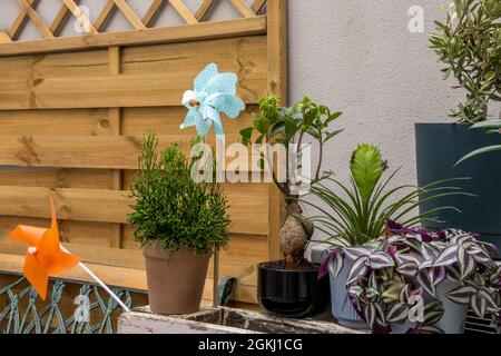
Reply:
[[[479,317],[490,317],[499,328],[501,269],[493,260],[493,245],[474,234],[449,229],[429,233],[387,221],[387,235],[364,246],[335,248],[325,259],[337,275],[346,258],[353,260],[346,288],[360,315],[374,333],[390,333],[409,322],[415,298],[424,315],[409,334],[442,333],[434,324],[443,315],[436,287],[449,280],[458,287],[446,297],[470,305]]]

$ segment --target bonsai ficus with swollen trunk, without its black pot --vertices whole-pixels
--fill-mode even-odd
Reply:
[[[299,206],[304,181],[297,178],[297,171],[301,169],[303,144],[313,139],[318,145],[320,158],[312,178],[312,184],[316,184],[330,175],[322,171],[324,147],[340,132],[331,131],[330,125],[341,115],[306,97],[293,107],[284,108],[279,106],[278,98],[271,95],[261,100],[259,113],[253,127],[240,131],[242,144],[252,145],[259,152],[262,169],[265,169],[266,165],[272,167],[273,181],[285,196],[286,218],[281,230],[281,247],[288,269],[302,264],[305,247],[314,230],[313,225],[304,218]],[[259,149],[262,145],[268,145],[268,152]],[[284,177],[274,168],[274,159],[269,155],[271,149],[276,146],[285,149],[285,157],[281,157],[286,160]]]

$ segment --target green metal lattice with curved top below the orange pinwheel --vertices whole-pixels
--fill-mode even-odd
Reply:
[[[52,291],[47,303],[41,303],[37,291],[20,277],[0,289],[6,307],[0,308],[0,334],[114,334],[117,315],[122,310],[105,291],[91,284],[71,284],[52,279]],[[78,314],[61,310],[61,300],[68,300],[66,289],[77,286],[76,295],[89,300],[88,322],[79,320]],[[128,307],[134,305],[137,294],[114,289]],[[73,296],[73,297],[75,297]],[[75,310],[79,306],[75,305]],[[71,312],[75,312],[71,310]],[[80,314],[81,315],[81,314]]]

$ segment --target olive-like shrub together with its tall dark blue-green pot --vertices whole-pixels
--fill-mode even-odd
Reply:
[[[492,103],[501,100],[501,2],[498,0],[454,0],[446,8],[446,20],[436,22],[438,31],[431,36],[431,48],[443,62],[445,78],[458,82],[456,89],[465,99],[452,112],[455,123],[416,125],[419,184],[444,177],[471,177],[463,189],[478,197],[448,197],[424,204],[452,205],[463,215],[441,211],[440,220],[463,230],[481,233],[483,240],[501,244],[501,166],[492,165],[489,156],[480,156],[454,168],[468,152],[501,144],[498,135],[471,131],[472,123],[487,122]],[[494,115],[494,112],[491,112]],[[485,174],[489,172],[489,174]],[[481,209],[479,208],[481,207]],[[440,222],[429,228],[445,228]]]

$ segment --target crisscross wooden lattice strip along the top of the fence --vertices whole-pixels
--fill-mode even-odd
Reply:
[[[0,43],[16,41],[27,20],[37,27],[43,38],[53,39],[58,37],[62,24],[70,16],[88,30],[88,34],[99,34],[115,11],[120,11],[136,30],[147,30],[167,4],[171,6],[187,24],[197,24],[204,21],[218,1],[229,1],[244,18],[257,17],[266,6],[266,0],[255,0],[252,4],[245,0],[204,0],[198,10],[193,12],[183,0],[154,0],[140,18],[125,0],[108,0],[97,20],[91,23],[78,7],[79,0],[61,0],[61,8],[52,23],[48,26],[37,12],[38,0],[18,0],[20,12],[8,31],[0,30]]]

